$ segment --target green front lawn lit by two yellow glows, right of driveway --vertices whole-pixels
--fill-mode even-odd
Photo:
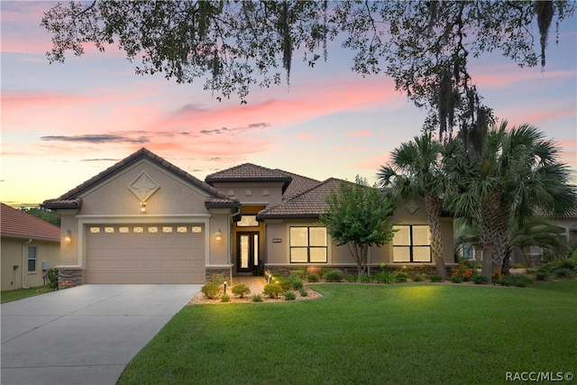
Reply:
[[[491,384],[577,371],[577,280],[314,289],[324,297],[185,307],[119,383]]]

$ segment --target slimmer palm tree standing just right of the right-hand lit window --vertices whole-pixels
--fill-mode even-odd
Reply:
[[[444,146],[436,142],[431,132],[427,131],[393,150],[392,160],[388,166],[380,168],[377,179],[380,187],[395,203],[408,201],[415,196],[424,197],[436,273],[446,279],[441,233],[444,196],[443,152]]]

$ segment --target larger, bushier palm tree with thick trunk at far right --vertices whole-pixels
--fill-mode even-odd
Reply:
[[[468,163],[462,179],[467,188],[453,197],[452,206],[457,214],[478,215],[482,274],[489,280],[493,263],[508,264],[509,220],[523,225],[536,214],[577,210],[577,189],[567,184],[569,169],[557,157],[554,142],[536,127],[523,124],[508,131],[503,121],[490,130],[481,161]]]

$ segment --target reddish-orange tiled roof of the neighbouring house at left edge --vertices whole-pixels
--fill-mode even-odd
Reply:
[[[3,236],[60,242],[60,227],[4,203],[0,207],[0,234]]]

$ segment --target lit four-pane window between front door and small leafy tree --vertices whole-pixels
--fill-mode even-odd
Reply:
[[[290,227],[291,263],[326,263],[326,227]]]

